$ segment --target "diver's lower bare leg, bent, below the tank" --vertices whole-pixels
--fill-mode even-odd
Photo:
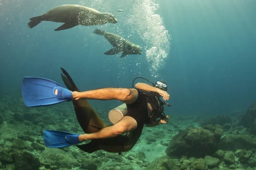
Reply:
[[[122,133],[130,132],[136,128],[136,120],[130,116],[125,116],[113,126],[105,127],[95,133],[79,135],[79,140],[86,141],[90,139],[112,138]]]

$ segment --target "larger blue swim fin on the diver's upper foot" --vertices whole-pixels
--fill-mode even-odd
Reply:
[[[58,90],[58,95],[55,95],[55,89]],[[73,99],[71,91],[42,77],[24,77],[22,97],[27,107],[55,105]]]

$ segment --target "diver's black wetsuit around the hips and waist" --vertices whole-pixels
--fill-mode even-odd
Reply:
[[[138,91],[138,98],[131,104],[126,104],[128,112],[125,116],[131,116],[137,122],[137,127],[145,124],[148,120],[148,104],[143,94]]]

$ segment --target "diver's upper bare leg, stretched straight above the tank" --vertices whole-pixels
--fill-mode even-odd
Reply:
[[[96,90],[72,92],[73,99],[78,100],[80,98],[85,99],[99,99],[99,100],[121,100],[125,101],[131,94],[131,90],[128,88],[100,88]]]

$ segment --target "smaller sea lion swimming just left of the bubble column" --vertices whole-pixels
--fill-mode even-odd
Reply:
[[[114,55],[122,52],[121,58],[125,57],[127,54],[142,54],[141,47],[135,45],[134,43],[125,40],[123,37],[100,30],[98,28],[94,29],[94,34],[99,34],[104,36],[114,47],[111,50],[105,52],[106,55]]]

